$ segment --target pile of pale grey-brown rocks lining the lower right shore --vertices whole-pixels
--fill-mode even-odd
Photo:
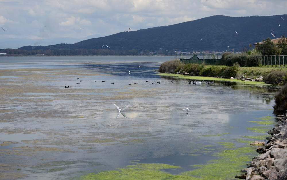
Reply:
[[[241,170],[244,174],[236,178],[246,180],[263,180],[263,179],[282,179],[287,177],[287,111],[284,115],[277,116],[277,127],[268,131],[272,137],[266,137],[268,140],[265,148],[259,147],[256,151],[262,153],[254,157],[250,165]],[[256,143],[256,141],[254,142]],[[257,144],[265,144],[259,142]],[[251,144],[256,145],[256,144]]]

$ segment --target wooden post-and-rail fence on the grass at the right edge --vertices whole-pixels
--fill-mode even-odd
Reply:
[[[280,66],[285,68],[287,64],[287,56],[280,55],[280,56],[260,56],[260,63],[261,66],[275,66],[276,68],[280,68]]]

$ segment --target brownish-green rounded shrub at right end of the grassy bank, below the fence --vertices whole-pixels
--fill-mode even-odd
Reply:
[[[267,84],[284,84],[286,81],[286,72],[280,70],[272,71],[264,77],[264,82]]]

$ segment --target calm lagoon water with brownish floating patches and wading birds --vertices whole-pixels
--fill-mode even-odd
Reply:
[[[177,174],[218,158],[216,142],[240,147],[242,136],[268,136],[247,128],[274,116],[276,86],[189,85],[158,74],[170,59],[0,57],[0,171],[6,179],[65,179],[165,163],[181,166],[166,170]],[[112,103],[130,106],[119,114]]]

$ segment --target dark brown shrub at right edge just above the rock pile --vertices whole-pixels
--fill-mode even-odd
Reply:
[[[275,105],[273,106],[274,112],[282,114],[287,110],[287,84],[285,84],[281,90],[279,90],[275,96]]]

